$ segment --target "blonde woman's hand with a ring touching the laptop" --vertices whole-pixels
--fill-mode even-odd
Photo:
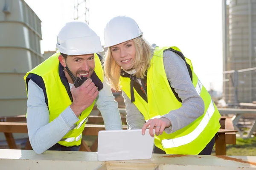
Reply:
[[[163,130],[166,127],[171,126],[171,121],[166,117],[161,117],[160,119],[149,119],[142,127],[142,134],[145,134],[146,128],[149,126],[149,134],[154,137],[154,130],[156,135],[163,134]],[[153,130],[154,129],[154,130]]]

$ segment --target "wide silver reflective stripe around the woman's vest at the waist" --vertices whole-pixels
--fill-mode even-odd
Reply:
[[[202,121],[200,122],[200,124],[198,125],[198,127],[195,128],[195,130],[193,130],[191,133],[185,135],[185,136],[181,136],[175,139],[164,139],[162,140],[162,144],[164,148],[172,148],[172,147],[179,147],[182,146],[184,144],[188,144],[190,142],[192,142],[193,140],[195,140],[200,133],[202,133],[202,131],[204,130],[204,128],[207,126],[209,120],[211,119],[213,113],[215,111],[215,107],[213,105],[213,102],[211,100],[211,103],[207,109],[207,113],[205,113],[204,118],[202,119]]]

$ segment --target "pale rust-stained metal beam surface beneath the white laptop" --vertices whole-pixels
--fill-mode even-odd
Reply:
[[[3,169],[146,169],[146,170],[239,170],[256,169],[256,156],[199,156],[153,154],[151,159],[127,161],[97,161],[96,152],[46,151],[36,154],[33,150],[0,150]]]

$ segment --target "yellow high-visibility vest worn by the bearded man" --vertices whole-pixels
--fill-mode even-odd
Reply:
[[[29,71],[24,77],[25,82],[27,76],[32,74],[37,74],[44,80],[46,94],[48,99],[49,108],[49,122],[52,122],[57,118],[68,106],[71,105],[70,97],[63,83],[61,82],[58,66],[58,56],[60,53],[55,53],[47,60],[42,62],[40,65]],[[95,60],[95,73],[99,79],[103,82],[103,69],[98,55],[94,54]],[[27,84],[26,84],[27,88]],[[27,95],[28,95],[28,89]],[[82,132],[84,130],[84,125],[86,120],[93,109],[95,100],[92,105],[86,108],[79,116],[79,121],[76,122],[76,126],[70,130],[58,143],[64,146],[78,146],[81,144]]]

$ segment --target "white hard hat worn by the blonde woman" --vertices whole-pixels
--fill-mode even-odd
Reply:
[[[111,47],[141,36],[143,32],[134,19],[127,16],[113,17],[104,28],[104,47]]]

